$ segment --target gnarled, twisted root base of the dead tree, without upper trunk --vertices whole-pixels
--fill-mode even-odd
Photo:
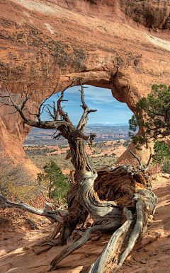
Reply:
[[[77,224],[84,221],[87,215],[86,212],[89,211],[94,219],[94,226],[87,229],[84,234],[81,233],[79,240],[67,245],[52,260],[50,270],[57,269],[57,265],[67,255],[84,245],[89,240],[91,233],[117,229],[105,250],[103,250],[98,260],[91,265],[89,271],[89,273],[108,271],[116,273],[123,265],[125,258],[129,255],[137,240],[144,235],[147,229],[148,216],[154,213],[157,205],[157,196],[150,188],[151,182],[145,171],[141,169],[141,165],[139,168],[123,165],[115,169],[99,170],[98,178],[96,178],[96,173],[92,170],[80,175],[79,185],[73,186],[77,188],[77,191],[71,189],[70,200],[72,202],[69,203],[70,207],[66,211],[60,209],[56,211],[38,210],[27,204],[10,202],[1,195],[0,199],[4,202],[5,207],[20,207],[35,214],[53,218],[55,221],[60,219],[60,223],[57,223],[50,238],[36,245],[39,247],[48,245],[47,248],[38,250],[38,254],[53,245],[63,245],[64,242],[68,242],[67,239],[72,235],[73,231],[76,231]],[[99,196],[102,194],[102,198],[104,198],[107,194],[108,201],[101,201],[94,191],[95,178],[95,188],[98,190]],[[109,194],[108,188],[110,189]],[[81,214],[84,214],[84,216]],[[56,238],[59,232],[60,236]],[[126,248],[123,250],[125,245]]]

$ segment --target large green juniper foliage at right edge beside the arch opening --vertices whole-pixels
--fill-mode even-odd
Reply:
[[[170,134],[170,86],[154,84],[147,98],[142,98],[135,108],[135,115],[129,120],[130,136],[138,147]],[[134,132],[141,128],[140,134]]]

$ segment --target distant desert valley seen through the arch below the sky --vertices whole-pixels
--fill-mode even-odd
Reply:
[[[130,145],[128,124],[117,126],[91,125],[86,127],[86,133],[97,134],[94,145],[90,148],[86,144],[86,153],[94,167],[114,165],[115,161]],[[42,170],[46,162],[55,161],[64,173],[69,174],[72,169],[70,159],[65,160],[70,151],[64,138],[52,139],[50,130],[33,129],[26,137],[23,148],[33,163]],[[49,145],[50,144],[50,145]]]

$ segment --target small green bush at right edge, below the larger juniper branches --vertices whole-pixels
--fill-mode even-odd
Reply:
[[[170,149],[164,141],[156,141],[154,144],[154,154],[152,155],[153,163],[162,164],[165,159],[169,159]]]

